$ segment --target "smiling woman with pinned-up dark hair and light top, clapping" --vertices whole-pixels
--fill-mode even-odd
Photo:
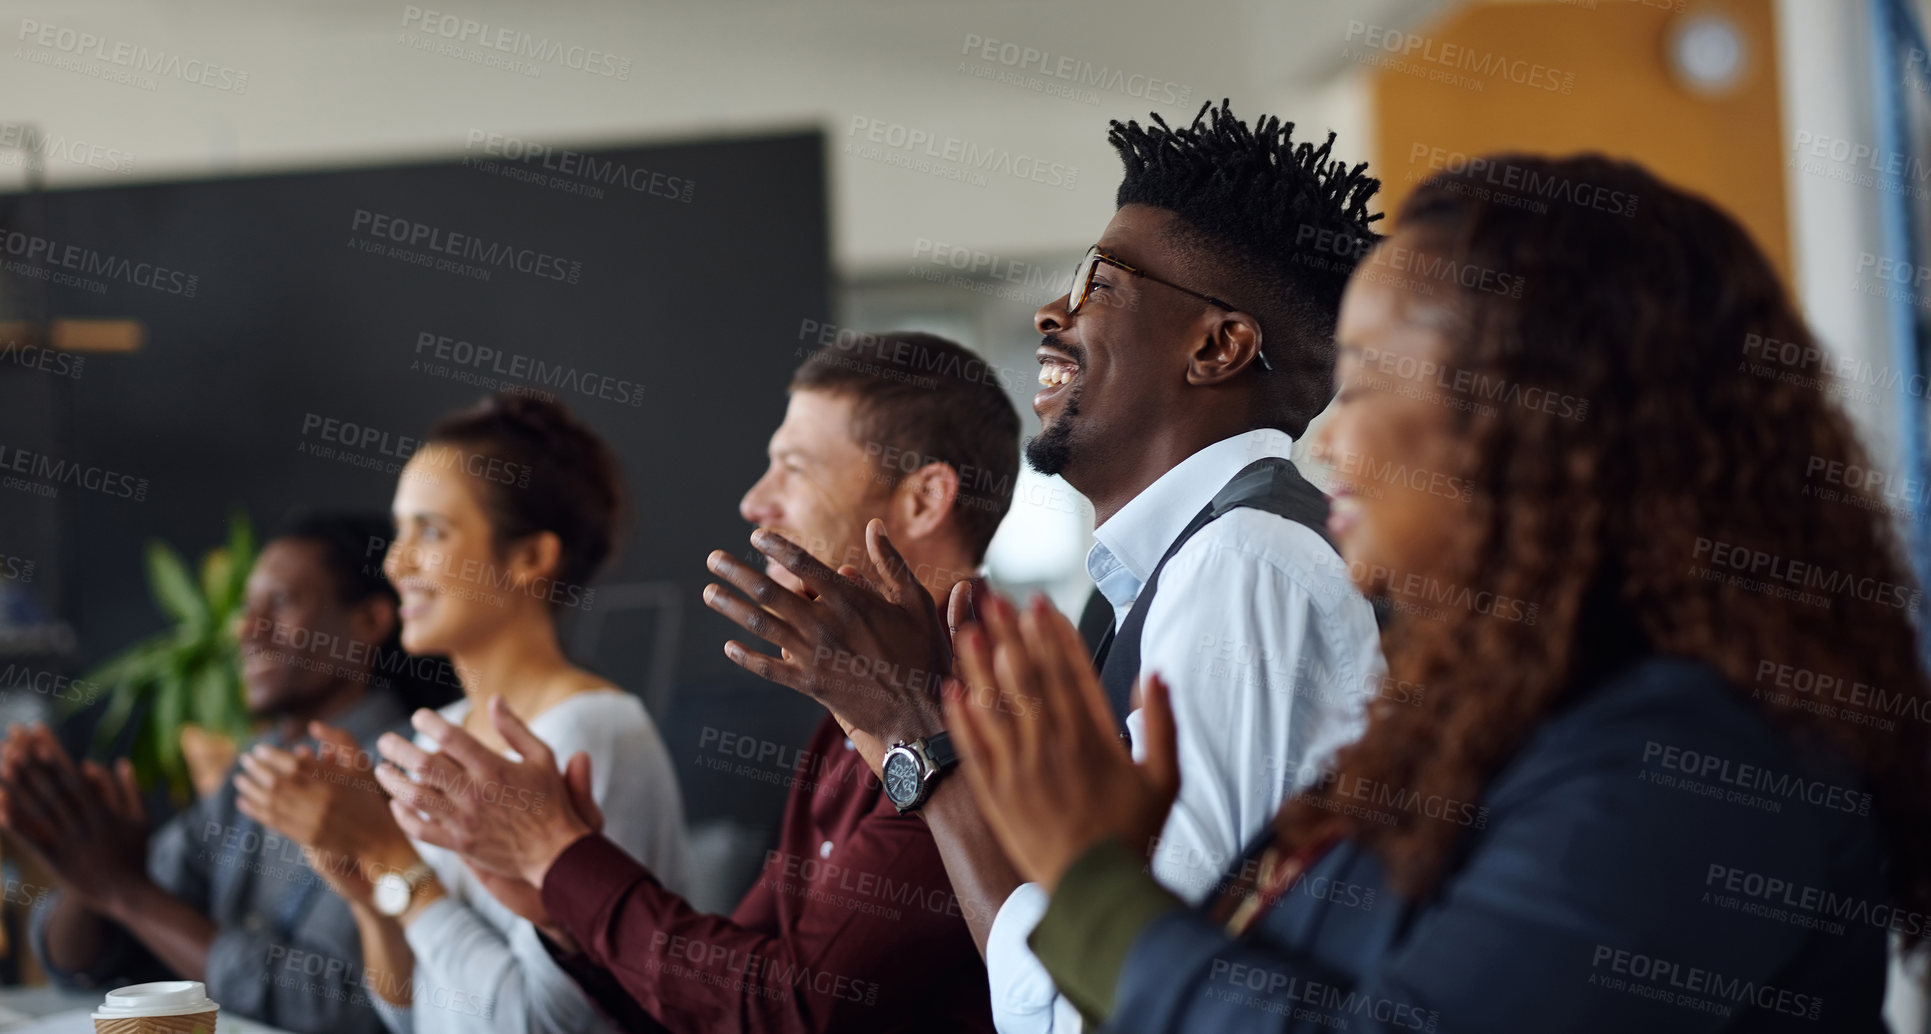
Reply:
[[[572,790],[608,816],[602,833],[680,887],[684,804],[657,725],[635,696],[570,663],[556,634],[560,611],[593,603],[587,584],[616,545],[620,514],[602,439],[560,404],[494,394],[440,419],[402,468],[382,566],[402,597],[402,647],[446,655],[463,682],[440,715],[512,754],[490,717],[508,707],[570,760]],[[407,744],[384,736],[382,750],[392,742]],[[436,750],[427,736],[415,744]],[[433,754],[396,775],[340,746],[321,760],[257,752],[239,785],[247,814],[301,843],[350,901],[384,1022],[398,1034],[610,1028],[537,935],[535,887],[475,872],[409,839],[396,818],[411,814],[411,779],[504,808],[556,802],[518,787],[452,787]]]

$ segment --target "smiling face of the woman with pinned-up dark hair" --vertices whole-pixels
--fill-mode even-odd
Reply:
[[[479,491],[481,479],[462,474],[448,446],[425,445],[402,468],[382,570],[402,595],[409,653],[463,653],[506,622],[546,618],[543,599],[519,589],[548,572],[529,568],[519,551],[496,553]]]

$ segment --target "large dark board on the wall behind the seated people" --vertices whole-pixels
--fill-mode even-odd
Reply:
[[[50,313],[147,327],[77,377],[0,367],[0,445],[141,489],[0,491],[0,553],[39,559],[85,661],[160,628],[149,537],[199,555],[230,508],[261,528],[386,510],[413,439],[508,385],[564,398],[624,460],[612,607],[566,636],[633,690],[747,680],[703,559],[745,547],[738,499],[798,329],[830,319],[817,131],[595,151],[471,133],[429,164],[52,191],[39,218],[6,201],[15,286],[33,267]]]

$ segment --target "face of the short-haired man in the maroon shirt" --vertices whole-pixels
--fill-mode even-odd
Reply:
[[[852,439],[852,396],[794,390],[767,450],[770,466],[738,503],[743,520],[792,539],[832,568],[867,566],[865,524],[888,518],[892,487]],[[774,560],[765,562],[765,574],[792,591],[803,589]]]

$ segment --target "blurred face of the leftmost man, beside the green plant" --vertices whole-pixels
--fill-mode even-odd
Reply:
[[[307,539],[268,541],[245,593],[236,638],[255,717],[309,707],[355,678],[396,620],[380,595],[344,603],[322,545]]]

